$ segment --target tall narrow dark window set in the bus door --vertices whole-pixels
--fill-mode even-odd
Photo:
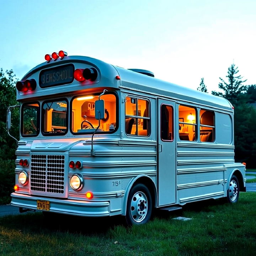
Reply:
[[[161,139],[172,141],[173,133],[173,108],[169,105],[161,105]]]

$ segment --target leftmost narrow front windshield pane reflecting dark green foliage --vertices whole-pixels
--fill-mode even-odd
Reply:
[[[39,104],[29,103],[22,106],[21,134],[36,136],[39,133]]]

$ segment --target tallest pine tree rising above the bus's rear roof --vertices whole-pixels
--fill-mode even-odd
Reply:
[[[225,82],[224,79],[219,78],[219,89],[223,90],[224,92],[212,91],[212,94],[224,97],[235,105],[241,94],[246,91],[246,87],[242,85],[242,83],[247,81],[247,79],[242,80],[242,76],[238,75],[238,72],[238,67],[235,67],[235,64],[232,64],[228,68],[228,75],[226,76],[226,78],[228,78],[228,82]]]

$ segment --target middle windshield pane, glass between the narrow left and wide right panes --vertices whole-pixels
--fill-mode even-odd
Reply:
[[[47,101],[43,104],[44,134],[64,135],[68,131],[67,101]]]

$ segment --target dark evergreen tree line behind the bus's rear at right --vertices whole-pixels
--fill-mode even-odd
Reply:
[[[220,92],[212,94],[226,98],[234,106],[235,161],[256,168],[256,85],[244,85],[247,80],[239,75],[235,64],[228,68],[226,80],[219,79]],[[203,78],[197,90],[208,92]]]

